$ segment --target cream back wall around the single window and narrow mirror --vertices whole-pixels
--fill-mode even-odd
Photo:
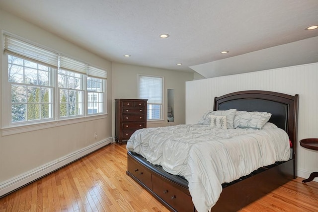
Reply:
[[[185,123],[185,82],[193,80],[193,73],[113,63],[113,112],[116,98],[138,98],[138,74],[163,76],[164,121],[147,123],[147,127],[163,127]],[[167,124],[167,89],[174,89],[174,123]]]

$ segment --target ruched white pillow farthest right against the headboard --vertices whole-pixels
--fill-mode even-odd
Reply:
[[[267,112],[247,112],[242,113],[239,119],[239,128],[261,129],[272,116]]]

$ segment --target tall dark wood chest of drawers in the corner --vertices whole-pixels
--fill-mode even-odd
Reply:
[[[148,99],[115,99],[115,141],[119,144],[129,140],[139,129],[147,128]]]

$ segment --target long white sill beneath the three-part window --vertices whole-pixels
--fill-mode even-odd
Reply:
[[[41,122],[41,123],[21,125],[21,126],[9,126],[6,128],[2,128],[1,131],[2,131],[2,136],[9,136],[9,135],[18,134],[18,133],[26,133],[26,132],[35,131],[35,130],[42,130],[42,129],[52,128],[52,127],[59,127],[59,126],[76,124],[80,122],[87,122],[87,121],[104,119],[104,118],[107,118],[107,114],[86,116],[81,118],[58,120],[58,121],[55,120],[55,121]]]

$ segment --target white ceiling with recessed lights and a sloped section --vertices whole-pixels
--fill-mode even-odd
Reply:
[[[0,8],[111,62],[207,78],[318,62],[318,29],[305,30],[318,25],[318,0],[0,0]]]

